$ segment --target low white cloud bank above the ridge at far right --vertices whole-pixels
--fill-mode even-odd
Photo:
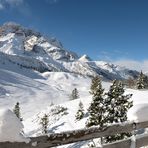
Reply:
[[[112,61],[112,63],[120,66],[125,66],[129,69],[138,70],[138,71],[142,70],[144,72],[148,72],[148,60],[136,61],[130,59],[122,59],[122,60]]]

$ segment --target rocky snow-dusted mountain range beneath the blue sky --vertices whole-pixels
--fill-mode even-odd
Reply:
[[[46,72],[68,72],[84,76],[100,75],[103,79],[137,77],[137,71],[104,61],[92,61],[87,55],[79,57],[65,49],[56,38],[47,38],[39,32],[16,23],[0,27],[0,62]]]

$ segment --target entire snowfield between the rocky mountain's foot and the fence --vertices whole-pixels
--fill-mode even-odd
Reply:
[[[91,102],[90,83],[90,78],[73,73],[39,73],[25,68],[20,70],[10,63],[1,64],[0,108],[12,110],[17,101],[20,103],[26,136],[42,134],[40,121],[45,113],[49,117],[48,133],[83,128],[88,118],[87,109]],[[106,91],[111,85],[109,82],[102,84]],[[74,88],[78,89],[80,98],[70,100]],[[146,114],[143,114],[143,110],[144,112],[148,110],[148,91],[126,89],[126,93],[133,94],[134,103],[128,113],[128,120],[147,120],[148,118],[146,118]],[[84,105],[85,117],[76,121],[75,115],[80,101]],[[87,146],[87,143],[70,144],[67,147],[74,148],[77,146]]]

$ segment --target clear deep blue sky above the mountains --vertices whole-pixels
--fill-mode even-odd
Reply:
[[[95,60],[148,60],[147,0],[0,0],[0,24],[8,21]]]

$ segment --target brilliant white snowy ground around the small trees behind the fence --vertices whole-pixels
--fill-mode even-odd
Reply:
[[[107,83],[103,83],[104,86],[107,86]],[[108,83],[108,86],[110,84]],[[107,86],[107,88],[108,88]],[[139,108],[144,108],[148,107],[148,91],[138,91],[135,90],[135,94],[133,93],[133,97],[132,100],[134,101],[134,106],[130,109],[129,113],[128,113],[128,120],[132,121],[133,119],[135,119],[134,117],[138,116],[136,114],[136,111],[139,111]],[[86,92],[88,94],[88,92]],[[131,93],[130,90],[127,90],[127,93]],[[143,95],[146,95],[147,97],[143,97]],[[138,100],[140,97],[141,102]],[[85,110],[85,117],[80,120],[80,121],[76,121],[75,120],[75,115],[76,112],[78,110],[78,105],[79,102],[82,102],[84,105],[84,110]],[[46,113],[49,115],[49,120],[51,123],[49,123],[49,133],[53,133],[53,132],[61,132],[61,131],[65,131],[66,130],[73,130],[73,129],[79,129],[79,128],[83,128],[85,127],[85,123],[87,120],[87,108],[89,107],[89,104],[91,102],[91,96],[88,94],[88,96],[82,96],[79,99],[76,100],[72,100],[72,101],[67,101],[58,105],[52,105],[52,106],[48,106],[47,108],[45,108],[44,110],[42,110],[41,112],[37,113],[36,115],[34,115],[31,118],[28,118],[24,121],[24,125],[25,126],[25,131],[26,133],[29,134],[29,136],[36,136],[41,134],[41,127],[39,125],[39,121],[40,118],[43,117],[43,115]],[[57,109],[59,107],[64,107],[66,108],[66,113],[63,113],[62,115],[59,114],[57,116],[54,116],[52,114],[54,114],[54,112],[52,113],[53,109]],[[136,114],[136,115],[135,115]],[[144,115],[142,115],[141,113],[139,113],[139,117],[141,116],[142,118],[146,119],[146,117]],[[132,116],[133,115],[133,116]],[[148,119],[148,118],[147,118]],[[139,119],[140,121],[143,121],[141,119]],[[30,128],[31,127],[31,128]]]

